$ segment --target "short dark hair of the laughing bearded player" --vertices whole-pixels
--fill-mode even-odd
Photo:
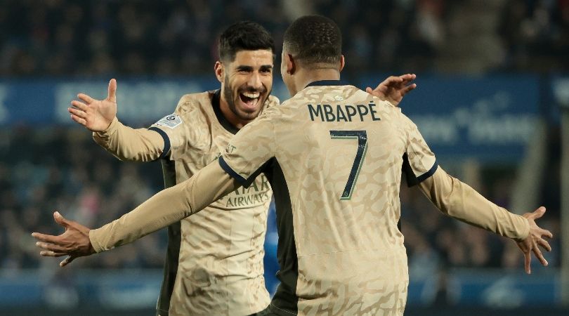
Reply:
[[[230,25],[219,37],[219,60],[233,61],[238,51],[266,49],[275,55],[275,42],[267,29],[251,21]]]

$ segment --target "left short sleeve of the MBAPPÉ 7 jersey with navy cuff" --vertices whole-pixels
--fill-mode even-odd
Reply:
[[[249,187],[275,157],[275,130],[268,112],[244,126],[218,159],[221,168],[244,187]]]

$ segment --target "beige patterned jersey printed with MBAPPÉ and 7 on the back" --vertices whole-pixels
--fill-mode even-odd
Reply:
[[[424,180],[436,159],[398,107],[340,83],[317,81],[266,110],[230,140],[219,164],[244,185],[263,172],[273,187],[281,268],[273,307],[402,315],[401,169]]]

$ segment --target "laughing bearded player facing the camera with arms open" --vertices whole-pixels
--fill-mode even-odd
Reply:
[[[174,114],[150,129],[131,129],[118,121],[115,79],[106,100],[79,94],[82,102],[73,101],[69,111],[119,159],[160,159],[170,187],[214,161],[242,126],[278,105],[270,96],[273,59],[273,39],[266,29],[238,22],[219,39],[215,73],[221,89],[183,96]],[[412,74],[389,77],[369,91],[397,105],[415,87],[409,84],[412,79]],[[158,315],[251,315],[266,308],[270,298],[263,279],[263,241],[271,195],[261,175],[251,187],[234,190],[204,212],[169,225]]]

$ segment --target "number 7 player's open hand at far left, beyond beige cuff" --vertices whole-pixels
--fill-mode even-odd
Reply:
[[[59,264],[63,267],[68,263],[71,263],[74,258],[95,254],[95,249],[93,249],[91,240],[89,240],[89,228],[86,228],[84,225],[72,220],[63,218],[63,216],[58,212],[53,213],[53,218],[55,218],[55,223],[58,223],[65,228],[65,232],[59,236],[44,235],[39,232],[33,232],[32,236],[38,240],[38,242],[36,242],[36,246],[44,249],[39,252],[41,256],[68,256]]]

